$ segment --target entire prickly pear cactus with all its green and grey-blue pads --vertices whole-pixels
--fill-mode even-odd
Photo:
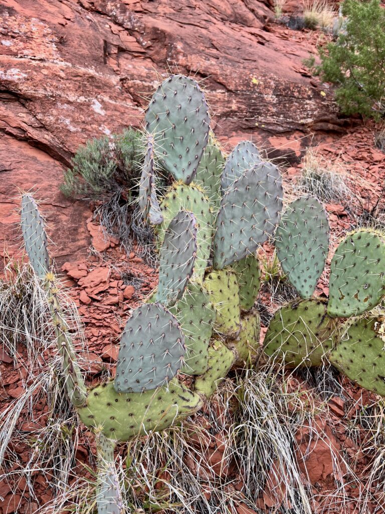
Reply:
[[[85,388],[57,302],[44,222],[31,196],[23,197],[25,245],[49,293],[69,395],[83,423],[101,437],[100,452],[109,452],[101,468],[108,480],[98,493],[104,514],[118,512],[120,501],[112,494],[108,442],[113,449],[114,441],[163,430],[196,412],[235,363],[257,355],[256,252],[270,237],[301,298],[275,314],[265,354],[288,366],[318,365],[330,354],[338,369],[385,394],[376,320],[356,318],[345,327],[337,319],[362,314],[384,295],[381,236],[370,230],[348,235],[332,260],[329,302],[312,298],[329,246],[319,201],[302,197],[281,213],[278,168],[263,161],[251,141],[224,158],[210,132],[204,93],[190,78],[170,76],[159,85],[145,130],[139,203],[157,237],[159,285],[127,321],[114,380]],[[174,179],[162,198],[155,189],[159,171]]]

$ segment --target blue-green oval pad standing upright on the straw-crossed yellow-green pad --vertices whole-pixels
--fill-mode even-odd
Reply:
[[[302,298],[310,298],[329,250],[329,221],[316,198],[294,200],[281,216],[275,246],[288,281]]]

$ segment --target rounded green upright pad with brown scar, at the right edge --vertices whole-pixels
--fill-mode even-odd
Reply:
[[[385,244],[372,230],[347,235],[330,266],[328,314],[358,316],[375,307],[385,294]]]

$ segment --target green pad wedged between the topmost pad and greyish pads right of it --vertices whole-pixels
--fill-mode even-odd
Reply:
[[[194,183],[201,186],[211,203],[219,207],[224,157],[218,146],[208,143],[199,163]]]

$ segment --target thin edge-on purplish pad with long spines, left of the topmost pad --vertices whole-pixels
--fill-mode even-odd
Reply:
[[[153,225],[163,221],[155,189],[155,171],[153,163],[153,138],[147,137],[147,149],[144,156],[142,175],[139,184],[139,206],[142,217]]]

